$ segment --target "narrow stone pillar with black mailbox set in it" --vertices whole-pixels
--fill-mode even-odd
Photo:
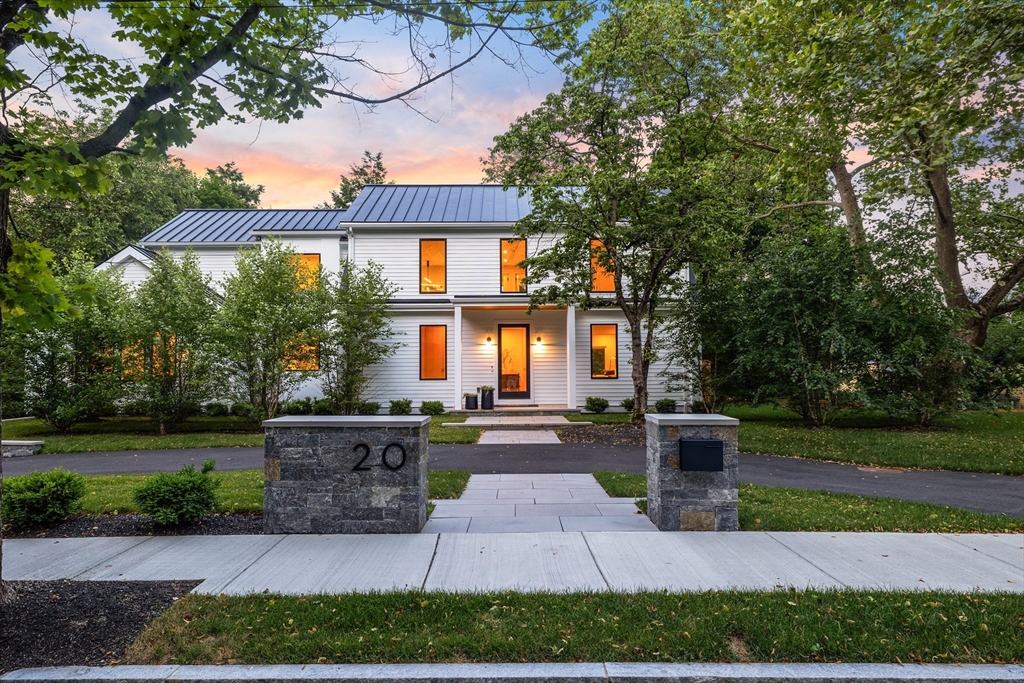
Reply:
[[[647,415],[647,516],[655,526],[739,529],[738,425],[722,415]]]

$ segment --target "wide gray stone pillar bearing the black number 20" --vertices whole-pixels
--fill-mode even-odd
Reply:
[[[429,416],[289,416],[263,423],[264,533],[418,533]]]

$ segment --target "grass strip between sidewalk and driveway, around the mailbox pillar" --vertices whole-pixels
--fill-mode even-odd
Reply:
[[[647,480],[629,472],[594,472],[609,496],[643,499]],[[646,501],[641,501],[646,503]],[[639,506],[645,510],[646,506]],[[775,486],[739,486],[744,531],[1024,531],[1024,519],[986,515],[944,505]]]

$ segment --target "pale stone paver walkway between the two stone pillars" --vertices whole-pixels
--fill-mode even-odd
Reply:
[[[590,474],[474,474],[462,498],[434,501],[423,527],[424,533],[654,530],[632,498],[611,498]]]

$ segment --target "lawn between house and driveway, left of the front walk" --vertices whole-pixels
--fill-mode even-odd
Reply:
[[[441,422],[464,422],[465,416],[438,416],[430,426],[431,443],[476,443],[479,429],[441,427]],[[4,439],[42,439],[43,453],[105,451],[165,451],[212,446],[263,446],[263,430],[243,418],[189,418],[160,435],[146,418],[103,418],[75,425],[70,434],[57,434],[42,420],[5,422]]]

